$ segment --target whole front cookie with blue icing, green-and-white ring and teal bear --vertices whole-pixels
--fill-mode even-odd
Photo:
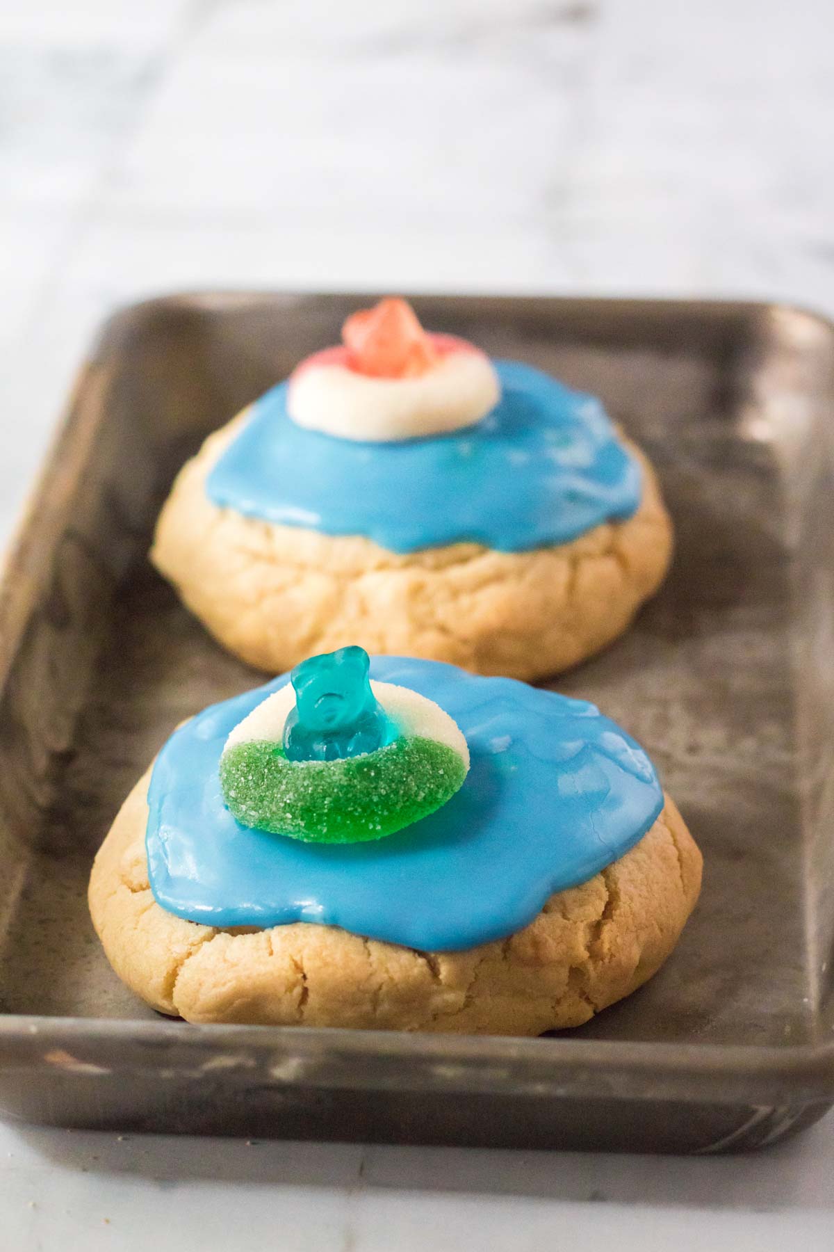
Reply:
[[[438,752],[404,777],[415,745]],[[649,978],[699,885],[594,705],[349,647],[174,732],[90,911],[124,982],[189,1020],[536,1034]]]

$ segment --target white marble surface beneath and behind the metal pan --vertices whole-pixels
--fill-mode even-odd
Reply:
[[[95,324],[176,288],[834,312],[830,0],[0,0],[0,537]],[[0,1129],[3,1246],[834,1246],[748,1159]]]

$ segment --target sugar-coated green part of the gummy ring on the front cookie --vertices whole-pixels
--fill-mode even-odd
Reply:
[[[244,826],[319,844],[384,839],[428,816],[466,776],[433,739],[400,737],[365,756],[288,761],[280,744],[235,744],[220,757],[220,785]]]

